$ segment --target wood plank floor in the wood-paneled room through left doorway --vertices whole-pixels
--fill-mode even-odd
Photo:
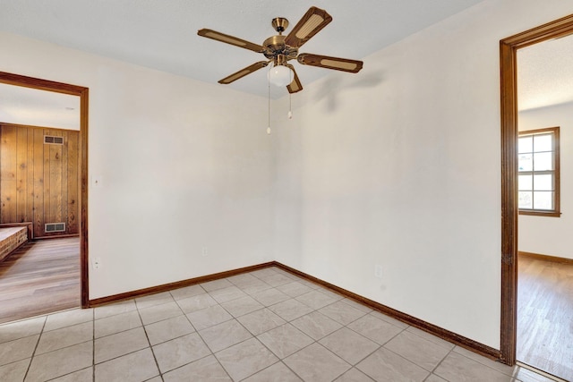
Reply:
[[[0,263],[0,323],[79,306],[79,238],[30,242]]]

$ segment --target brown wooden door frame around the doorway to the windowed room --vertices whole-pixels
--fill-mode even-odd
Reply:
[[[573,14],[500,41],[501,80],[501,361],[517,350],[517,49],[573,33]]]

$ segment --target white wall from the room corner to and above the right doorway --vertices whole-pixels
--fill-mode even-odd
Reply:
[[[276,129],[278,261],[499,349],[499,42],[571,4],[484,1],[306,85]]]

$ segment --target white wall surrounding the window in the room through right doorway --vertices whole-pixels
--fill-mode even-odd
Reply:
[[[517,248],[573,259],[573,103],[519,113],[519,130],[560,126],[560,217],[520,215]]]

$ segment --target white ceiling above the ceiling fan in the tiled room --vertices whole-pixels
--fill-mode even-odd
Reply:
[[[287,33],[315,5],[333,21],[301,52],[360,60],[480,1],[0,0],[0,30],[215,84],[264,56],[201,38],[201,28],[261,44],[277,34],[273,18],[290,21]],[[331,72],[295,67],[303,86]],[[265,73],[220,86],[266,97]],[[279,89],[273,98],[285,94]]]

